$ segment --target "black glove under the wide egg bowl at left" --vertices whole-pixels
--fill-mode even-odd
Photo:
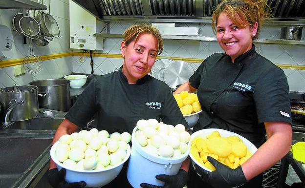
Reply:
[[[65,181],[65,168],[60,171],[57,168],[52,168],[47,171],[46,175],[53,188],[85,188],[86,186],[86,182],[67,183]]]

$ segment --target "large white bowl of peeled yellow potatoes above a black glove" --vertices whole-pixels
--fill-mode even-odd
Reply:
[[[257,151],[256,146],[239,134],[218,128],[194,132],[190,143],[192,164],[196,163],[207,171],[215,170],[215,167],[207,160],[207,156],[234,169]]]

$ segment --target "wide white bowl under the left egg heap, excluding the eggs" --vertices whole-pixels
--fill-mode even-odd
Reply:
[[[56,146],[59,144],[59,141],[56,142],[51,147],[51,158],[55,162],[58,171],[63,168],[63,164],[59,162],[55,157]],[[65,167],[65,181],[68,183],[85,181],[87,188],[99,188],[109,184],[116,176],[120,173],[123,168],[124,163],[129,159],[131,155],[131,147],[128,145],[126,151],[126,157],[119,164],[100,170],[76,170],[69,167]]]

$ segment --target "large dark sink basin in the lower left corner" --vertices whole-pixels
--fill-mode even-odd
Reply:
[[[0,187],[15,187],[13,184],[31,173],[51,142],[50,138],[0,137]]]

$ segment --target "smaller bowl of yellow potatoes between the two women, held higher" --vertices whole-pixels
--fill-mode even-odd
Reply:
[[[189,125],[188,128],[196,125],[199,119],[199,113],[202,111],[197,95],[195,93],[181,91],[179,94],[174,94],[174,98],[183,114],[183,117]]]

